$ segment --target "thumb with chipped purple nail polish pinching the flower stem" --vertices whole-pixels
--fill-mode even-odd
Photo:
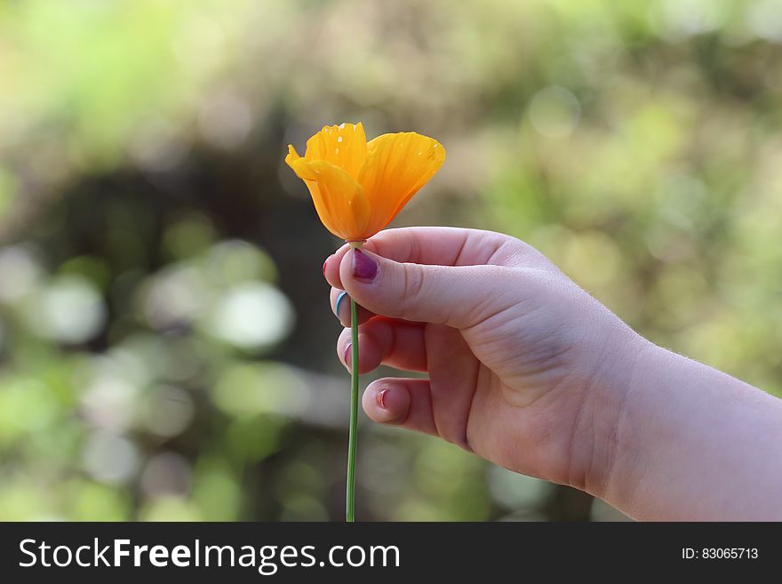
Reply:
[[[377,315],[466,329],[507,308],[507,294],[497,291],[511,269],[399,263],[351,249],[339,277],[350,297]]]

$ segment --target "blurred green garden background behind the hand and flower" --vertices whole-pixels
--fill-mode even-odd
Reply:
[[[323,124],[443,142],[394,225],[782,394],[780,98],[779,0],[0,2],[0,519],[342,518]],[[369,423],[357,516],[621,518]]]

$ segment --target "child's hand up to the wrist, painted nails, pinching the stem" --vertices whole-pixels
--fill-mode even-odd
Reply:
[[[646,344],[530,245],[460,228],[389,229],[324,265],[359,313],[372,420],[441,436],[527,475],[600,494],[634,357]],[[339,302],[350,324],[350,303]],[[349,368],[350,331],[337,353]]]

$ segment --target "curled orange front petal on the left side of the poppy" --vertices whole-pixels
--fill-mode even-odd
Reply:
[[[318,217],[331,233],[346,241],[366,239],[370,204],[362,186],[352,176],[323,160],[307,162],[289,154],[285,162],[304,180]]]

